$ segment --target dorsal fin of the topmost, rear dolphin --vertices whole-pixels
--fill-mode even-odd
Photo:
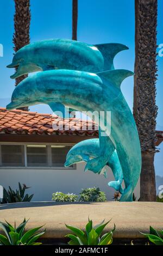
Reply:
[[[104,70],[114,69],[113,60],[118,52],[128,50],[126,45],[110,43],[95,45],[104,57]]]

